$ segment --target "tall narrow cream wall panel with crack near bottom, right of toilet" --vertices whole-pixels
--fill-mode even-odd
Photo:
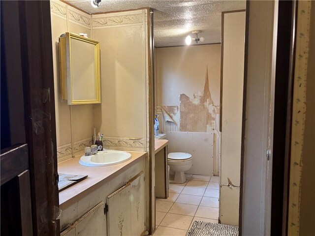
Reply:
[[[238,225],[239,215],[245,14],[225,13],[222,22],[220,222],[230,225]]]

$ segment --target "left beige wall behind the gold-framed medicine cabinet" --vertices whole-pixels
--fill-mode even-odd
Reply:
[[[51,1],[51,24],[55,83],[57,156],[62,161],[82,152],[93,135],[93,104],[67,105],[61,99],[59,72],[59,36],[65,32],[92,34],[91,16],[62,1]],[[84,144],[84,145],[80,145]]]

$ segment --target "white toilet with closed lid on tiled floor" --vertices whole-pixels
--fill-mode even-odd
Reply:
[[[185,152],[171,152],[167,155],[170,167],[170,183],[182,184],[186,182],[185,171],[192,167],[191,154]]]

